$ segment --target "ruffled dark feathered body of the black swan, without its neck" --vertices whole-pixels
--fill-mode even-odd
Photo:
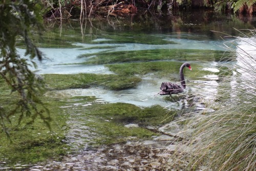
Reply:
[[[162,82],[160,90],[160,95],[171,95],[183,92],[183,88],[180,85],[172,82]]]

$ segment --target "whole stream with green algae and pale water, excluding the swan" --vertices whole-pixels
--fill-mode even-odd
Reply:
[[[11,118],[12,143],[0,135],[0,168],[146,170],[167,162],[156,161],[179,125],[165,124],[202,110],[218,94],[225,40],[210,30],[233,34],[231,27],[253,24],[227,25],[230,18],[218,16],[189,26],[193,21],[184,18],[133,19],[45,23],[42,37],[34,37],[45,58],[31,69],[47,83],[40,98],[51,113],[51,130],[39,119],[16,126],[18,117]],[[183,62],[192,67],[184,69],[187,90],[158,95],[162,81],[179,83]],[[0,81],[1,105],[11,110],[17,96]]]

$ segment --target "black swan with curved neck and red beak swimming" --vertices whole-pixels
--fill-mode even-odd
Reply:
[[[189,68],[191,70],[190,64],[189,63],[183,63],[182,66],[180,67],[180,79],[181,79],[181,85],[178,85],[177,83],[172,83],[172,82],[162,82],[161,87],[160,87],[160,95],[172,95],[172,94],[178,94],[182,93],[183,89],[186,88],[186,83],[184,80],[184,75],[183,75],[183,68]]]

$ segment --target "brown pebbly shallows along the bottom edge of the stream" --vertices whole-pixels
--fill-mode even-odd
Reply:
[[[138,127],[138,124],[127,124],[125,127]],[[153,127],[151,127],[153,129]],[[154,127],[155,129],[155,127]],[[90,147],[79,154],[69,154],[62,161],[46,161],[44,165],[16,165],[31,171],[37,170],[165,170],[172,163],[170,156],[177,150],[172,136],[160,135],[152,140],[137,140],[130,138],[126,143]],[[187,151],[185,145],[181,147]],[[75,152],[75,151],[74,151]],[[12,169],[12,167],[0,167]],[[166,169],[167,170],[167,169]]]

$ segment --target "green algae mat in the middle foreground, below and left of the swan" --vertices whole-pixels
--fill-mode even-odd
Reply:
[[[98,134],[88,142],[91,145],[124,142],[129,137],[149,139],[156,134],[145,127],[170,122],[175,113],[158,105],[141,109],[127,103],[95,103],[84,111],[84,117],[90,117],[85,125],[92,127],[94,134]],[[124,126],[129,123],[136,123],[140,127]]]

